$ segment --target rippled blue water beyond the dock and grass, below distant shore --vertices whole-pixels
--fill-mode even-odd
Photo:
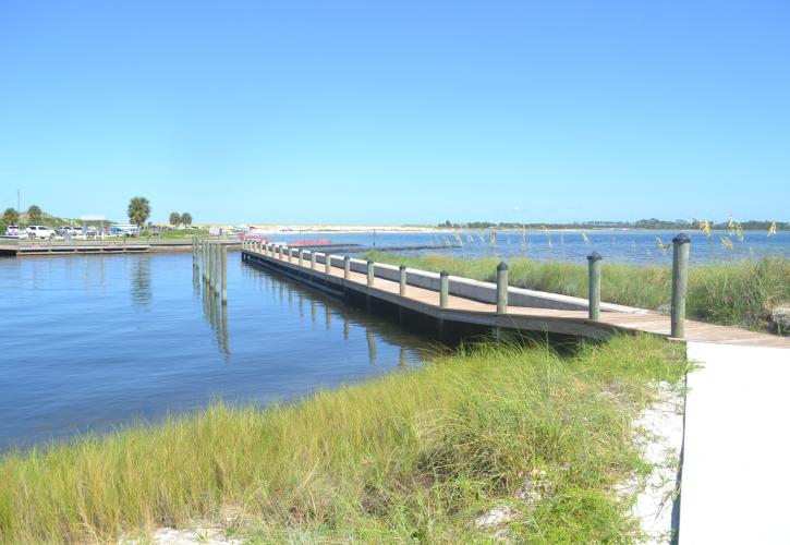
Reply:
[[[584,233],[584,234],[582,234]],[[275,233],[271,240],[294,241],[326,238],[332,243],[356,243],[364,246],[417,246],[454,244],[459,247],[443,250],[466,257],[530,257],[532,259],[563,259],[584,262],[591,252],[596,251],[605,259],[619,263],[670,264],[671,247],[659,249],[658,242],[671,246],[672,237],[678,231],[549,231],[530,230],[497,231],[491,244],[490,231],[458,231],[439,233],[354,233],[354,234],[297,234]],[[790,257],[790,232],[780,231],[767,237],[764,231],[748,231],[743,241],[730,237],[727,231],[714,231],[707,238],[698,231],[688,234],[692,239],[691,263],[703,264],[764,255],[783,255]],[[586,237],[586,240],[585,240]],[[728,245],[728,242],[732,245]],[[462,244],[462,245],[461,245]],[[584,262],[586,263],[586,262]]]

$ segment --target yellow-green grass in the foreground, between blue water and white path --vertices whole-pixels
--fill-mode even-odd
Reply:
[[[653,385],[680,385],[681,348],[647,337],[483,344],[287,407],[215,404],[0,459],[0,542],[114,541],[214,521],[262,542],[490,537],[519,512],[530,542],[630,541],[612,487],[646,470],[631,422]],[[542,473],[542,472],[545,472]],[[516,491],[532,483],[539,499]]]

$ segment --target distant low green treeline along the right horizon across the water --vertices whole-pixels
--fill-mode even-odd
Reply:
[[[727,230],[731,227],[730,220],[692,220],[684,219],[663,220],[663,219],[640,219],[637,221],[574,221],[572,223],[514,223],[514,222],[494,222],[494,221],[469,221],[465,223],[454,223],[450,220],[439,223],[440,229],[700,229],[707,221],[712,229]],[[740,227],[745,231],[766,231],[776,226],[777,230],[790,230],[790,223],[787,221],[768,221],[768,220],[749,220],[739,222]]]

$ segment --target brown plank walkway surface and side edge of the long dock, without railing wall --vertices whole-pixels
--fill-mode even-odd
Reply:
[[[284,256],[270,256],[250,249],[242,251],[242,258],[246,258],[245,256],[283,271],[299,274],[308,278],[313,277],[338,288],[351,289],[438,319],[490,327],[567,334],[594,339],[610,337],[616,331],[647,332],[663,337],[669,337],[670,332],[669,316],[658,313],[601,312],[600,319],[591,320],[586,311],[559,311],[511,305],[508,307],[507,314],[498,314],[495,304],[452,294],[448,298],[448,306],[441,308],[439,306],[438,291],[406,286],[405,294],[400,295],[400,284],[397,281],[377,276],[374,286],[368,287],[365,274],[351,271],[347,280],[344,279],[343,268],[336,265],[330,267],[330,272],[327,275],[324,264],[316,264],[316,268],[311,268],[311,262],[304,261],[300,266],[295,257],[289,262]],[[790,349],[790,339],[786,337],[695,320],[686,320],[685,338],[682,340]]]

